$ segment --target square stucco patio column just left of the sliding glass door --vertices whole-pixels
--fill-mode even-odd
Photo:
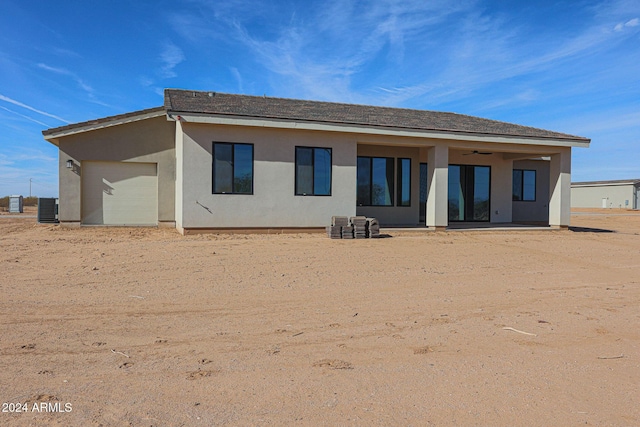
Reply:
[[[428,155],[426,225],[444,230],[449,225],[449,147],[436,145]]]

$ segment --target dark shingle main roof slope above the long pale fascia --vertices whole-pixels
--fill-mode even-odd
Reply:
[[[215,114],[523,138],[588,138],[456,113],[166,89],[169,113]]]

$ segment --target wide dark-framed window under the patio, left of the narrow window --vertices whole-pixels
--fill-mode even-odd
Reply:
[[[392,157],[358,156],[359,206],[393,206],[393,161]]]

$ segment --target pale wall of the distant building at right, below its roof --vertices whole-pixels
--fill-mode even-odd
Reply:
[[[638,209],[634,203],[636,198],[633,184],[601,184],[571,188],[571,207],[574,208],[602,208],[602,199],[607,199],[607,208]]]

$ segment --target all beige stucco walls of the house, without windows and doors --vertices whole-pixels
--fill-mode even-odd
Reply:
[[[254,144],[253,195],[212,194],[213,141]],[[332,148],[331,196],[294,194],[296,146]],[[431,210],[427,203],[427,225],[446,225],[446,167],[449,164],[491,167],[491,222],[545,221],[551,211],[550,162],[510,159],[535,153],[551,155],[553,159],[550,151],[557,150],[504,143],[471,144],[418,137],[174,122],[164,116],[66,136],[59,140],[59,147],[62,222],[81,220],[83,161],[152,162],[158,165],[159,221],[175,221],[179,229],[323,227],[333,215],[356,214],[376,217],[382,226],[415,226],[419,223],[420,210],[419,164],[427,163],[431,172],[434,159],[430,156],[439,156],[439,171],[443,173],[436,174],[437,182],[434,174],[429,175],[430,190],[438,188],[441,195],[430,199],[439,200],[437,206],[435,202],[432,204]],[[467,155],[473,150],[492,154]],[[562,166],[559,170],[563,171],[563,185],[554,188],[565,186],[565,175],[570,174],[570,153],[570,149],[562,151],[565,162],[559,163]],[[410,158],[411,206],[356,207],[358,155]],[[79,167],[68,170],[68,159]],[[512,202],[514,167],[539,170],[536,202]],[[434,182],[437,185],[432,185]],[[394,182],[394,193],[396,184]],[[560,210],[569,201],[569,193],[561,193],[557,193],[556,201]],[[568,209],[563,215],[556,222],[568,224],[563,219],[568,217]]]

